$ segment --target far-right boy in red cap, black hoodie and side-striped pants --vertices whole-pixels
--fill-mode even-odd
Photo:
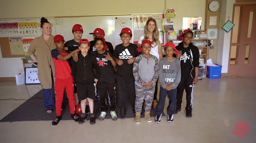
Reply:
[[[181,52],[177,55],[180,57],[180,68],[181,68],[181,79],[177,87],[177,101],[176,101],[176,112],[177,114],[181,110],[181,102],[183,91],[186,91],[186,117],[192,116],[193,107],[193,89],[194,84],[197,83],[198,78],[198,66],[199,66],[199,50],[194,46],[191,41],[193,38],[193,32],[186,29],[179,36],[178,40],[183,40],[176,49]]]

